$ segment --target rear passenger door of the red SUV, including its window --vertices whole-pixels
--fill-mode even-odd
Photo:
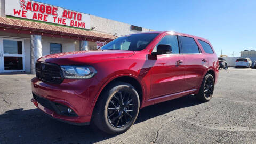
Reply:
[[[209,67],[208,59],[202,54],[195,39],[180,36],[182,53],[185,58],[185,87],[184,90],[198,89],[204,72]]]

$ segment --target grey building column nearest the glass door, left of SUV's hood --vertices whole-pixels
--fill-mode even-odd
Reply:
[[[42,36],[30,35],[30,71],[36,73],[36,60],[42,57]]]

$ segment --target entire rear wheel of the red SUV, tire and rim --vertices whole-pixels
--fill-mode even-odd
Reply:
[[[205,89],[208,91],[205,92]],[[203,82],[200,86],[198,94],[196,94],[196,98],[204,102],[210,101],[213,95],[213,91],[214,91],[214,78],[211,74],[207,74],[203,79]]]

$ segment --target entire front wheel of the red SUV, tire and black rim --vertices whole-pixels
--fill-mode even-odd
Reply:
[[[139,95],[135,88],[129,83],[113,82],[106,87],[101,96],[93,111],[93,125],[111,135],[121,134],[130,129],[140,107]]]

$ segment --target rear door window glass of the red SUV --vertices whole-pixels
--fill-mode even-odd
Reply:
[[[197,46],[194,38],[180,36],[182,53],[200,53],[199,47]]]

